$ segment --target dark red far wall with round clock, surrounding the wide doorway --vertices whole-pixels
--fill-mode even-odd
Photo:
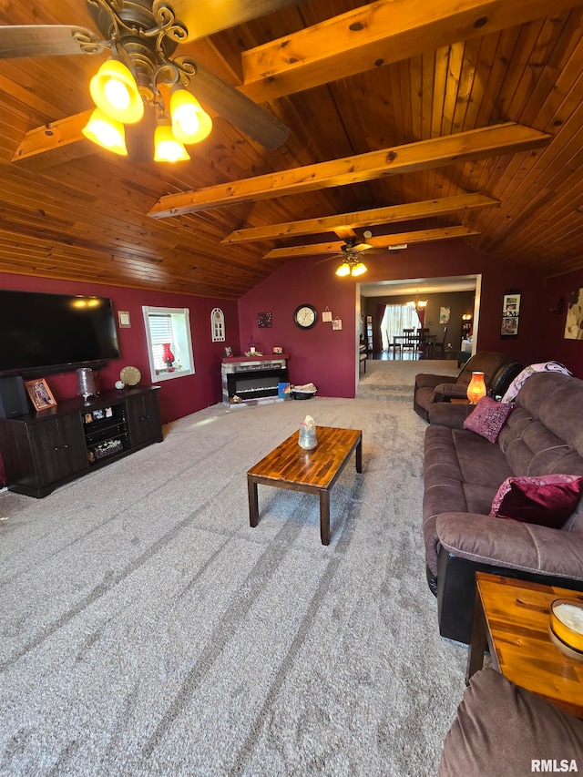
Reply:
[[[510,353],[525,364],[542,361],[545,347],[540,322],[545,285],[541,277],[469,248],[461,240],[412,245],[398,254],[369,254],[365,262],[368,272],[362,279],[367,283],[481,274],[478,348]],[[245,294],[239,302],[240,348],[245,350],[251,337],[266,351],[271,351],[272,345],[282,345],[291,356],[292,383],[312,381],[323,396],[353,397],[357,374],[356,281],[338,278],[334,274],[338,263],[321,258],[294,259]],[[522,294],[516,340],[500,336],[502,302],[509,290]],[[301,332],[292,322],[293,311],[302,302],[314,305],[320,317],[308,332]],[[343,320],[341,332],[332,331],[330,323],[322,322],[326,307]],[[258,327],[257,314],[264,311],[272,312],[271,329]],[[360,333],[360,317],[358,321]]]

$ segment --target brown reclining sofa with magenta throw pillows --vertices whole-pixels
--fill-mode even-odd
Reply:
[[[583,590],[583,499],[560,530],[489,516],[512,475],[583,475],[583,381],[535,373],[496,443],[435,404],[424,446],[427,578],[442,636],[469,643],[476,570]]]

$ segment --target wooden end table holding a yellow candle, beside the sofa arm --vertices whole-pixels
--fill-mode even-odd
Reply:
[[[476,572],[467,680],[484,664],[487,639],[496,670],[583,719],[583,661],[564,655],[548,635],[556,598],[583,601],[583,593]]]

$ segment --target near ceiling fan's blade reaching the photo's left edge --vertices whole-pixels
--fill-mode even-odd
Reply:
[[[87,37],[84,44],[97,44],[99,37],[86,27],[66,25],[0,26],[0,59],[18,56],[87,54],[73,34]]]

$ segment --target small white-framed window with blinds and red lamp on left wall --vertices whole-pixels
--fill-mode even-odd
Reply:
[[[188,308],[144,306],[152,383],[194,373]]]

